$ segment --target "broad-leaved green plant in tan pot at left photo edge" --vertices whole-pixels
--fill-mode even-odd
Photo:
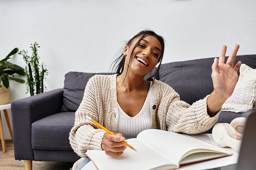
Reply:
[[[18,52],[18,48],[14,48],[6,58],[0,61],[0,105],[8,104],[10,97],[9,81],[14,80],[18,83],[25,83],[25,80],[14,77],[14,74],[25,76],[24,68],[9,62],[11,56]]]

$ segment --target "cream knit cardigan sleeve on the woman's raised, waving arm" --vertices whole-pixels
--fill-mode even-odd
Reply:
[[[210,117],[207,113],[207,95],[204,99],[192,105],[180,100],[179,94],[167,87],[163,99],[169,101],[166,105],[166,126],[168,131],[186,134],[198,134],[209,130],[217,122],[220,111]]]

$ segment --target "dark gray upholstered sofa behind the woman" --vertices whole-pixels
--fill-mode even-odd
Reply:
[[[238,56],[236,62],[239,60],[256,68],[256,55]],[[213,90],[213,61],[214,58],[206,58],[162,64],[156,79],[173,87],[181,100],[193,104]],[[74,113],[93,75],[95,73],[69,72],[63,88],[12,102],[15,159],[62,162],[79,159],[70,147],[68,138],[74,125]],[[233,118],[243,114],[223,112],[218,123],[230,123]],[[211,133],[211,129],[206,133]]]

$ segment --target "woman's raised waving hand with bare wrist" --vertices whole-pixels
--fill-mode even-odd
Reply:
[[[207,111],[210,116],[214,116],[221,109],[221,106],[231,96],[237,84],[238,69],[241,61],[234,66],[234,60],[237,57],[238,49],[239,45],[236,44],[225,63],[227,46],[223,45],[219,59],[215,58],[211,66],[211,79],[214,84],[214,91],[212,91],[207,100]]]

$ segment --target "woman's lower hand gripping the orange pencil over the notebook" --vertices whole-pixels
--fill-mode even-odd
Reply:
[[[125,144],[121,143],[121,141],[124,140],[125,138],[121,133],[116,133],[115,136],[105,132],[102,139],[101,148],[102,150],[105,150],[106,155],[119,156],[127,148]]]

